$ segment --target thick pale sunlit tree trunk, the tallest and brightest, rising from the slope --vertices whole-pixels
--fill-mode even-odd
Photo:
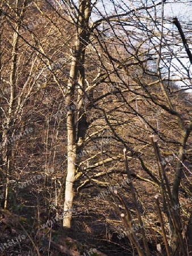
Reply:
[[[74,99],[74,93],[76,89],[76,82],[78,77],[78,93],[80,102],[80,108],[82,104],[82,88],[85,86],[85,48],[89,40],[89,18],[91,13],[91,1],[81,0],[79,1],[78,10],[78,27],[76,44],[74,47],[72,64],[70,67],[70,79],[68,83],[68,92],[66,94],[66,127],[68,133],[68,171],[65,183],[65,203],[64,203],[64,221],[63,226],[70,228],[72,221],[72,208],[73,208],[73,197],[74,197],[74,181],[75,172],[77,169],[77,143],[84,139],[86,129],[88,127],[86,123],[86,114],[82,113],[82,110],[78,111],[78,125],[76,128],[74,122],[75,105],[77,99]],[[76,26],[77,26],[76,24]],[[87,31],[88,30],[88,31]],[[81,93],[80,93],[81,92]],[[77,130],[77,131],[76,131]],[[77,136],[76,136],[77,133]],[[77,138],[76,138],[77,137]],[[81,143],[80,143],[81,144]],[[80,145],[80,147],[82,144]]]

